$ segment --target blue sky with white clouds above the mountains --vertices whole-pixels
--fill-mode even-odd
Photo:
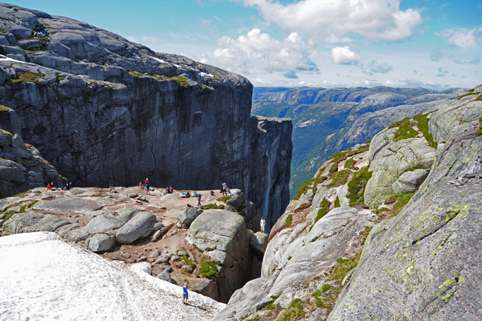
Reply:
[[[474,87],[482,0],[19,0],[253,85]]]

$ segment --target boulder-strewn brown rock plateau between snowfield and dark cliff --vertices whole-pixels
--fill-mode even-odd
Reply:
[[[247,228],[253,225],[247,209],[255,208],[242,191],[199,191],[197,208],[189,203],[198,199],[180,198],[180,191],[145,193],[139,187],[31,189],[0,200],[0,234],[54,232],[108,260],[147,262],[152,276],[181,285],[189,280],[192,291],[220,302],[260,276],[267,234]]]

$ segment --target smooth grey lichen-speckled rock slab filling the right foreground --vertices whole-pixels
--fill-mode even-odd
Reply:
[[[431,110],[437,158],[417,194],[377,225],[329,320],[479,320],[482,101]]]

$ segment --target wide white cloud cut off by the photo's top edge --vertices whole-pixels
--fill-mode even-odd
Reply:
[[[271,0],[244,0],[266,21],[286,30],[328,38],[359,34],[370,41],[404,41],[423,19],[419,10],[400,10],[397,0],[301,0],[284,5]]]

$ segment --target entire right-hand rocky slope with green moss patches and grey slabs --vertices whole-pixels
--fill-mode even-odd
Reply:
[[[213,320],[479,320],[482,87],[333,155]]]

